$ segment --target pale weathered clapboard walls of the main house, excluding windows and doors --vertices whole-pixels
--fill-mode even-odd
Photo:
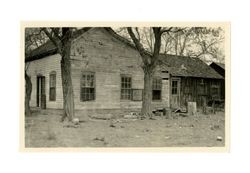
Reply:
[[[121,75],[132,77],[132,88],[143,89],[144,75],[138,52],[121,41],[111,37],[100,28],[92,29],[74,40],[71,48],[72,82],[74,86],[75,109],[140,109],[142,101],[121,100]],[[56,71],[56,101],[49,99],[49,73]],[[80,80],[82,72],[95,74],[95,100],[81,101]],[[52,55],[29,63],[32,79],[31,106],[36,106],[36,76],[45,76],[47,108],[63,108],[60,55]],[[156,76],[161,76],[158,68]],[[168,74],[167,74],[168,75]],[[166,74],[164,74],[166,77]],[[169,80],[163,81],[162,99],[154,101],[154,107],[169,107]]]

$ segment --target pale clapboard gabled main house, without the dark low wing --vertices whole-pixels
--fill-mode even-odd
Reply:
[[[62,109],[61,57],[52,42],[25,59],[31,76],[31,107]],[[71,70],[76,112],[140,110],[144,75],[135,47],[110,28],[92,28],[71,47]],[[153,106],[169,107],[169,74],[158,68],[153,80]]]

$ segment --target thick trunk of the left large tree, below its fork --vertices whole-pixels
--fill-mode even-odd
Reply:
[[[69,121],[74,118],[74,92],[71,79],[71,62],[70,62],[70,49],[71,41],[67,40],[62,43],[62,60],[61,60],[61,73],[62,73],[62,87],[63,87],[63,109],[64,115],[62,121],[67,117]]]

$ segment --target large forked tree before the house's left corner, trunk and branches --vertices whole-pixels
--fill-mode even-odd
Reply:
[[[42,28],[41,30],[56,46],[57,52],[61,55],[61,75],[63,88],[63,109],[62,121],[67,117],[71,121],[74,114],[74,91],[71,79],[70,51],[72,41],[90,28]]]

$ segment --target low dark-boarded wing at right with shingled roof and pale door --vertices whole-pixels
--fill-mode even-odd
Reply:
[[[220,100],[223,77],[198,58],[162,55],[161,63],[170,73],[171,108],[186,109],[187,102],[198,107],[212,100]]]

